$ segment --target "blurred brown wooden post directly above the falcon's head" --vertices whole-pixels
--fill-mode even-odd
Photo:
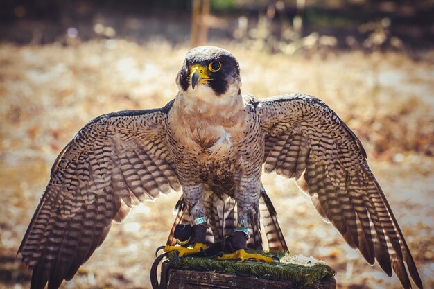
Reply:
[[[193,0],[191,11],[191,46],[199,46],[207,43],[210,1]]]

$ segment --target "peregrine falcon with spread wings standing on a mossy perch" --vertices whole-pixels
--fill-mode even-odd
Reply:
[[[60,152],[18,251],[33,270],[31,288],[70,280],[112,220],[171,189],[182,189],[174,225],[191,222],[194,234],[190,247],[175,246],[171,234],[164,251],[193,254],[230,234],[234,253],[222,259],[269,261],[245,251],[262,247],[264,215],[270,248],[287,249],[263,168],[296,179],[368,263],[393,270],[404,288],[410,273],[422,288],[361,142],[330,107],[306,94],[243,93],[238,61],[214,46],[189,51],[176,83],[165,107],[98,116]]]

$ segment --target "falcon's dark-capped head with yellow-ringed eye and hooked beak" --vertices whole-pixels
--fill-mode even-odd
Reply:
[[[241,87],[240,68],[229,51],[199,46],[186,54],[176,82],[183,94],[203,100],[236,96]]]

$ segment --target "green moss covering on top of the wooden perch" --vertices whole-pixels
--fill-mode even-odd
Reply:
[[[264,263],[258,261],[218,261],[215,259],[185,257],[174,261],[171,268],[184,270],[209,271],[243,277],[257,277],[259,279],[287,281],[298,286],[313,284],[318,281],[331,279],[336,272],[324,261],[313,257],[293,255],[283,252],[252,251],[266,256],[278,256],[278,263]],[[175,253],[168,254],[168,259],[175,258]]]

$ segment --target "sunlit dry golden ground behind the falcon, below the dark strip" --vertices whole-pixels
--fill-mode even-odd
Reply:
[[[434,64],[394,53],[266,55],[229,46],[243,89],[322,98],[367,149],[425,288],[434,286]],[[90,119],[161,107],[176,92],[188,48],[108,40],[78,46],[0,46],[0,288],[26,288],[15,254],[63,146]],[[290,251],[326,260],[339,288],[401,288],[324,224],[293,181],[266,175]],[[134,209],[62,288],[150,288],[155,248],[166,242],[179,193]]]

